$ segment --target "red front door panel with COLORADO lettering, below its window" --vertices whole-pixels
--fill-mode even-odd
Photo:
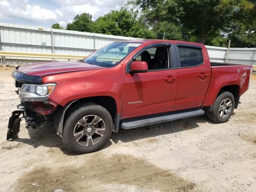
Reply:
[[[169,76],[176,79],[164,79]],[[178,70],[124,74],[124,116],[174,109],[177,86]],[[136,101],[142,102],[129,104]]]

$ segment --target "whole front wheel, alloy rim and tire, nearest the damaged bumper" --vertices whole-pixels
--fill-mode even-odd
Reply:
[[[112,124],[105,108],[94,103],[82,104],[68,113],[63,142],[69,150],[78,154],[94,152],[110,138]]]

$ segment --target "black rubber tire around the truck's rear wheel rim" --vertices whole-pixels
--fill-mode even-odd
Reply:
[[[226,98],[231,100],[232,106],[230,106],[231,108],[229,109],[230,110],[229,113],[224,112],[226,117],[221,118],[221,116],[220,116],[221,111],[219,111],[219,109],[220,109],[220,105],[222,104],[223,100]],[[234,98],[233,94],[228,91],[222,91],[216,98],[211,110],[206,111],[206,115],[207,115],[208,119],[210,119],[213,122],[224,123],[224,122],[227,122],[228,119],[230,118],[230,116],[232,115],[232,113],[234,111],[234,106],[235,106],[235,98]]]

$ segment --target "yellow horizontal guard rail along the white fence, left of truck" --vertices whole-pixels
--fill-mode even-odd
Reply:
[[[52,54],[52,53],[27,53],[27,52],[12,52],[0,51],[2,57],[30,57],[30,58],[54,58],[54,59],[83,59],[83,55],[65,55],[65,54]]]

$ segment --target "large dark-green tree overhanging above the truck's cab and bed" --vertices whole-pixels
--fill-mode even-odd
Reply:
[[[245,10],[255,6],[255,0],[136,0],[142,8],[145,22],[172,22],[182,26],[198,41],[220,36],[234,20],[241,21]]]

